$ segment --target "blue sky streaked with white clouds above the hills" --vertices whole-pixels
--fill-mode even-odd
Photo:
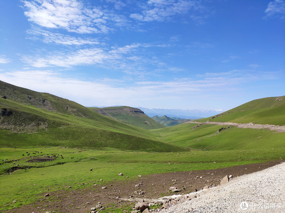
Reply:
[[[84,106],[228,110],[284,59],[284,0],[0,0],[0,80]]]

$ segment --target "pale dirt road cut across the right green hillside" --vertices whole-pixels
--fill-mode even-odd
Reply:
[[[186,123],[194,123],[194,124],[217,124],[217,125],[229,125],[229,126],[236,126],[237,128],[250,128],[250,129],[269,129],[272,131],[277,132],[285,132],[285,126],[278,126],[278,125],[271,125],[271,124],[238,124],[238,123],[231,123],[231,122],[186,122]]]

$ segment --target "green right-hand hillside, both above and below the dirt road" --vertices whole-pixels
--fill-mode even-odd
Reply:
[[[211,121],[283,126],[285,125],[284,98],[285,96],[253,100],[212,118],[197,120],[198,122],[209,120],[207,124],[184,123],[154,131],[162,135],[163,141],[188,149],[250,150],[282,147],[285,132],[221,126],[211,124]]]

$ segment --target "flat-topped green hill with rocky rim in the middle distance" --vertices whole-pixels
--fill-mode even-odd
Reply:
[[[89,109],[98,112],[102,115],[109,116],[115,120],[121,121],[125,124],[141,127],[146,130],[164,128],[162,124],[156,122],[143,111],[138,108],[129,106],[114,106],[114,107],[88,107]]]

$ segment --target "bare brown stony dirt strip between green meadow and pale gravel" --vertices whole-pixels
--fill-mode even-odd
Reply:
[[[173,195],[174,193],[169,191],[171,186],[181,189],[182,191],[179,194],[186,194],[193,192],[195,189],[200,190],[205,185],[219,185],[220,180],[226,175],[232,175],[235,178],[263,170],[281,162],[284,162],[284,160],[232,166],[222,169],[152,174],[126,181],[117,181],[115,179],[107,183],[100,183],[100,181],[94,183],[92,181],[86,183],[89,185],[88,187],[78,190],[72,190],[72,188],[70,190],[68,188],[69,184],[66,183],[66,190],[48,191],[49,197],[44,196],[46,192],[42,193],[40,195],[41,198],[36,202],[6,212],[37,213],[51,211],[86,213],[91,212],[91,208],[96,206],[98,202],[101,202],[104,208],[111,207],[115,209],[125,205],[130,208],[140,199],[144,199],[147,202],[149,199]],[[172,181],[173,179],[176,181]],[[142,183],[142,186],[139,188],[135,187],[138,183]],[[102,189],[102,187],[107,188]],[[109,211],[112,212],[111,209]]]

